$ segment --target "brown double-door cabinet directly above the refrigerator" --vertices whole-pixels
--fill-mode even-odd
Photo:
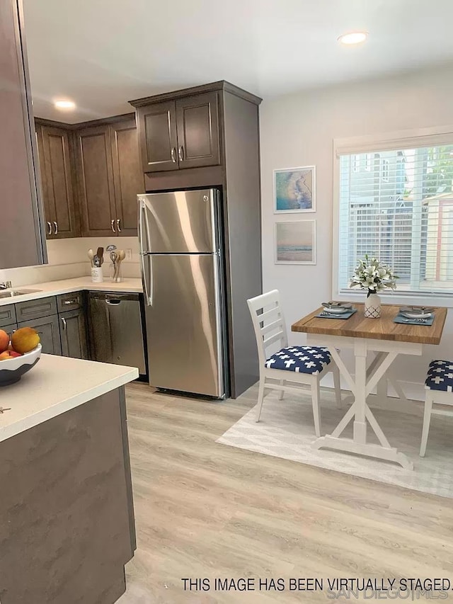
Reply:
[[[144,172],[220,163],[217,92],[137,108]]]

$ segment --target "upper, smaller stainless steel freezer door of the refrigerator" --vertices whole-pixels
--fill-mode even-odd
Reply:
[[[216,251],[216,193],[215,189],[206,189],[137,195],[142,251]]]

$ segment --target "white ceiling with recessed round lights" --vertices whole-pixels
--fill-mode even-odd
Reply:
[[[35,115],[226,79],[263,98],[453,62],[453,0],[23,0]],[[336,41],[369,31],[360,47]],[[62,113],[52,99],[71,98]]]

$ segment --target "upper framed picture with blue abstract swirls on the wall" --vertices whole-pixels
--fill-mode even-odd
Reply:
[[[274,170],[274,213],[316,210],[315,166]]]

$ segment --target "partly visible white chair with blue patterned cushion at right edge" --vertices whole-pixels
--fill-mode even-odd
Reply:
[[[432,404],[453,406],[453,361],[432,360],[425,380],[425,412],[423,414],[420,457],[425,457],[432,415],[453,416],[448,409],[432,409]]]

